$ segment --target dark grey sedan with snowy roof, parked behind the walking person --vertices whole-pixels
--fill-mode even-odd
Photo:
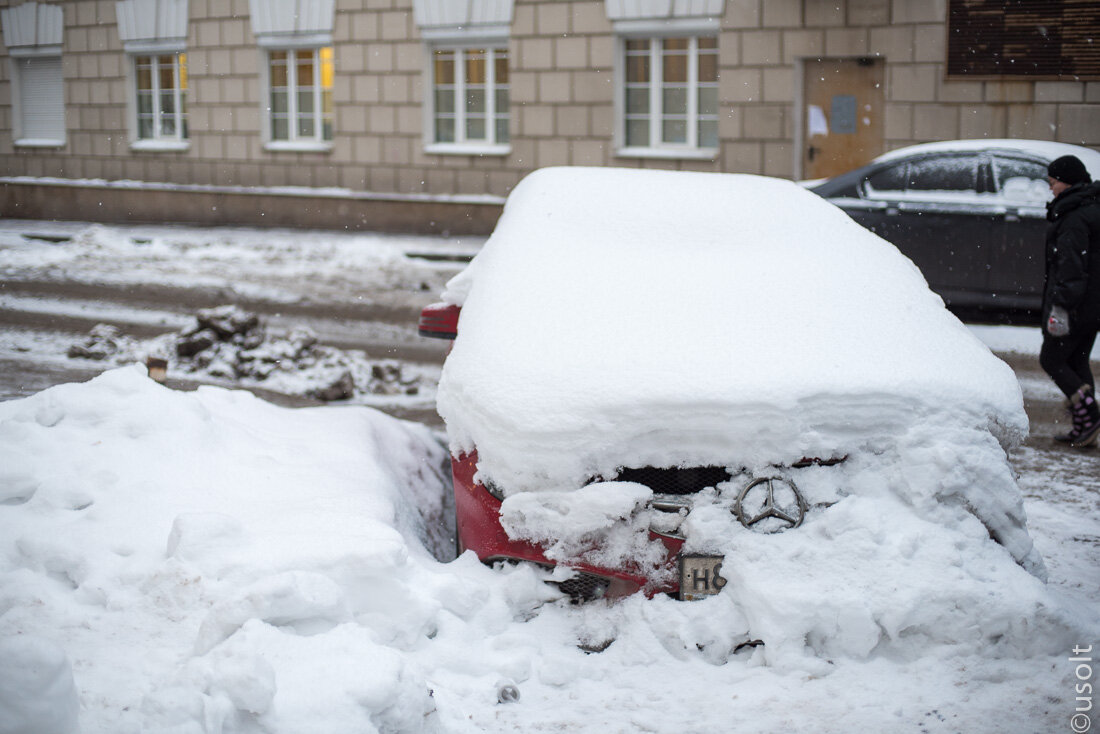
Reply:
[[[889,240],[956,309],[1037,311],[1043,300],[1046,167],[1100,153],[1034,140],[925,143],[811,188]]]

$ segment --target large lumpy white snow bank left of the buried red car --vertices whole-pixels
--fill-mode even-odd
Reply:
[[[420,731],[399,649],[479,610],[454,585],[487,573],[427,550],[451,543],[444,460],[367,408],[140,366],[0,404],[0,731],[73,731],[66,655],[86,732]]]

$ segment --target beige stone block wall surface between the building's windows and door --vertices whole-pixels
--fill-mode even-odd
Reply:
[[[617,46],[603,0],[516,0],[510,152],[429,154],[427,55],[413,0],[337,0],[332,150],[272,152],[261,140],[262,56],[248,0],[190,0],[190,146],[133,151],[114,1],[54,1],[65,15],[67,141],[61,149],[12,145],[10,68],[0,62],[0,176],[339,187],[406,201],[408,195],[503,197],[548,165],[798,177],[801,61],[821,56],[884,59],[887,150],[980,136],[1100,147],[1100,81],[946,78],[946,0],[727,0],[714,160],[622,157],[614,147]]]

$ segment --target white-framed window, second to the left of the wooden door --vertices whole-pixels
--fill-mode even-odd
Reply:
[[[508,51],[432,51],[432,142],[495,146],[509,142]]]

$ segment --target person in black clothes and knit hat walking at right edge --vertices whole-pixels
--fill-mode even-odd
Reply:
[[[1082,448],[1100,435],[1089,354],[1100,330],[1100,183],[1064,155],[1047,167],[1046,283],[1040,365],[1068,398],[1072,428],[1056,441]]]

